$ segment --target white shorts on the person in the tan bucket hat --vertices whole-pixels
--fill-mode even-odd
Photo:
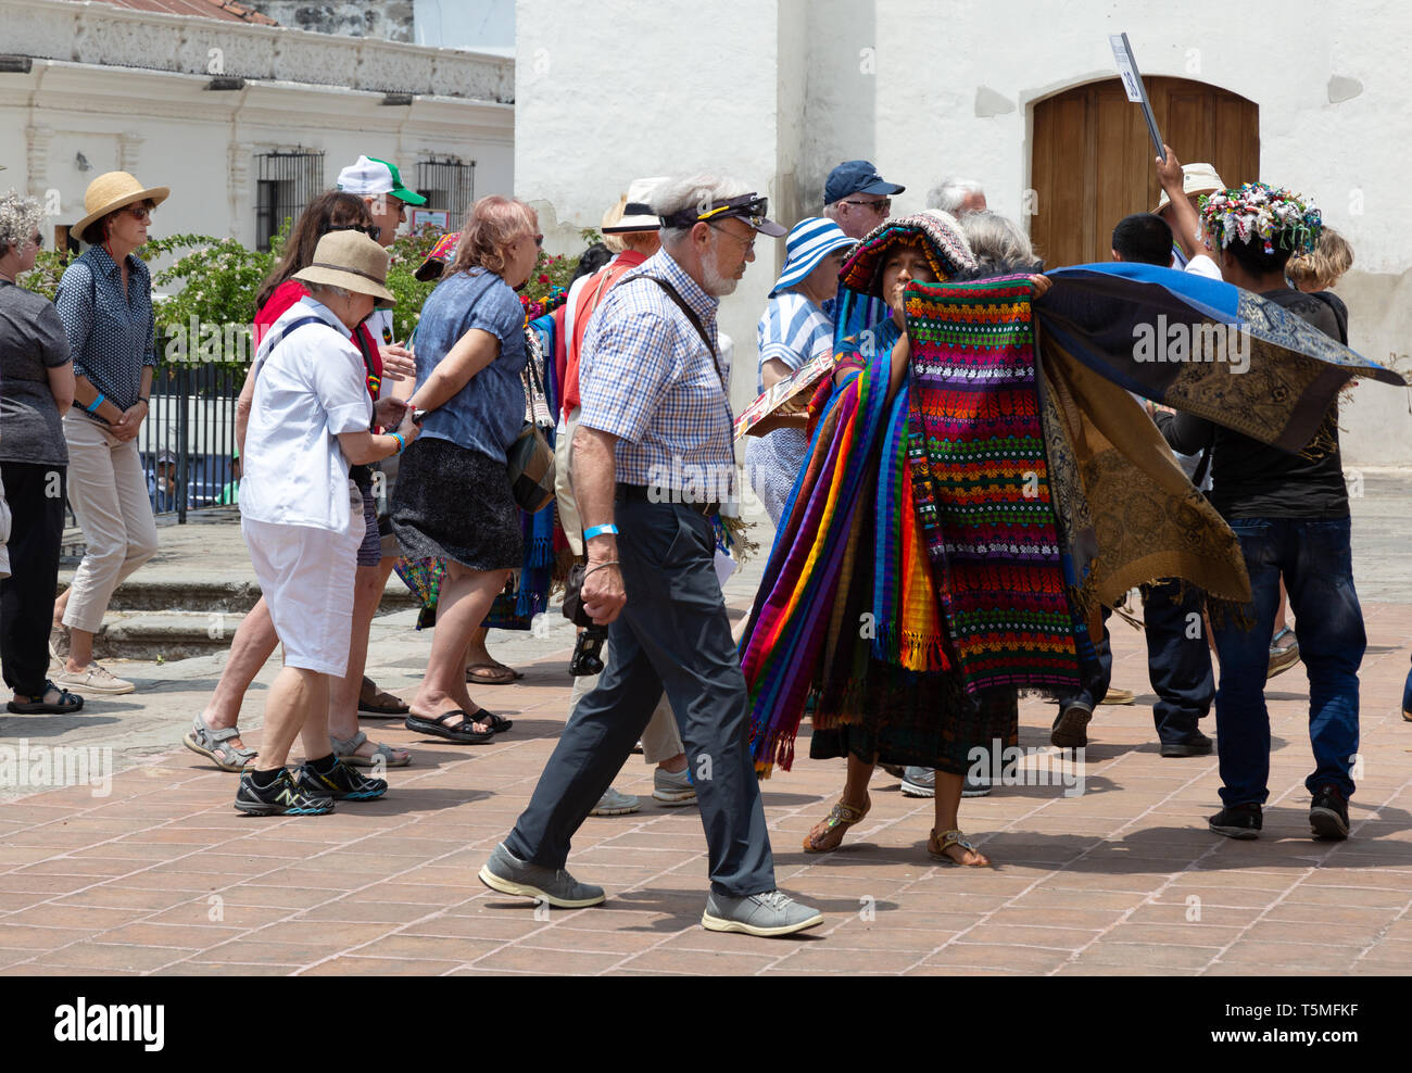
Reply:
[[[241,518],[256,580],[264,593],[284,665],[342,678],[353,637],[353,579],[363,518],[345,535],[308,525]]]

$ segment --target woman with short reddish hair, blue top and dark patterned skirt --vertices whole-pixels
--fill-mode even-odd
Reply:
[[[456,260],[422,306],[417,391],[422,436],[402,456],[393,532],[408,559],[442,559],[436,634],[407,727],[457,743],[490,741],[510,720],[466,690],[466,648],[524,559],[507,449],[525,414],[525,312],[515,291],[539,257],[539,222],[520,200],[472,206]]]

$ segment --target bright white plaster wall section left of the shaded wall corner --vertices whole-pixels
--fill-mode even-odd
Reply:
[[[778,131],[792,121],[778,106],[781,72],[798,82],[791,72],[802,68],[779,62],[781,7],[802,28],[796,0],[518,1],[515,193],[538,203],[551,251],[579,253],[578,230],[596,227],[641,175],[730,174],[768,193],[774,209]],[[785,38],[786,52],[802,44],[802,34]],[[784,240],[761,237],[720,306],[720,328],[736,344],[737,411],[755,395],[755,325],[782,257]]]

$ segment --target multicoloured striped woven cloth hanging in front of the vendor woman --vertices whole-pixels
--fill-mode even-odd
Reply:
[[[1028,277],[911,284],[907,452],[967,693],[1079,683],[1035,384]]]

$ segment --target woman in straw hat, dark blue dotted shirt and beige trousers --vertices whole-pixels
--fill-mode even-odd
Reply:
[[[113,590],[157,553],[157,522],[137,452],[157,366],[152,282],[134,251],[147,241],[167,186],[144,189],[126,171],[89,184],[85,216],[73,226],[89,248],[59,280],[54,305],[73,354],[73,408],[64,416],[69,445],[69,505],[88,549],[73,585],[54,604],[55,651],[66,662],[54,682],[85,696],[131,693],[134,686],[93,661],[93,634]],[[64,637],[65,628],[68,638]]]

